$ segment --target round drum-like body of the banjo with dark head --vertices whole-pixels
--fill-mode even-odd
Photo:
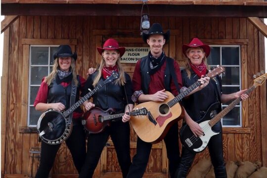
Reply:
[[[37,131],[45,143],[59,144],[69,137],[72,122],[68,122],[61,112],[49,109],[40,116]]]

